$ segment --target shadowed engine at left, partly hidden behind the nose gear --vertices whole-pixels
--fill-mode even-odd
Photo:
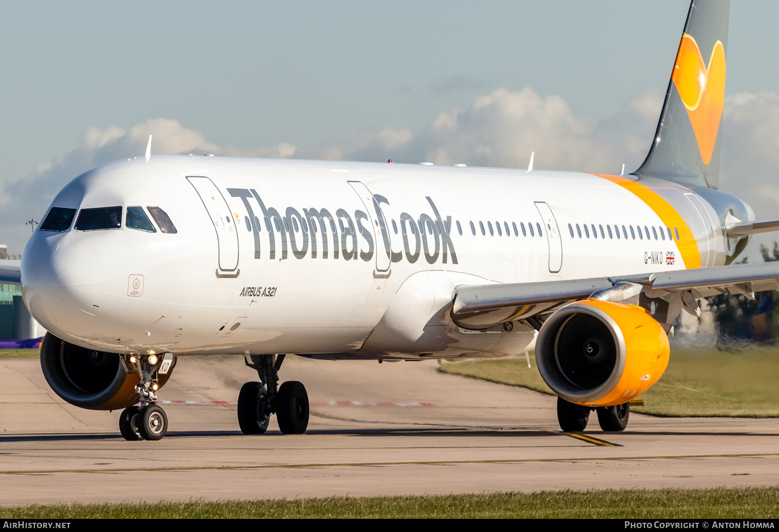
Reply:
[[[140,377],[130,373],[135,369],[125,369],[122,355],[116,353],[79,347],[47,333],[41,342],[41,369],[55,394],[80,408],[119,410],[140,401]],[[159,376],[159,387],[171,373],[173,366]]]

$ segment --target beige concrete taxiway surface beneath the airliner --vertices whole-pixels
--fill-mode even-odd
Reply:
[[[159,442],[127,442],[118,411],[59,399],[37,360],[0,361],[0,505],[540,489],[776,485],[779,419],[631,415],[559,432],[555,398],[438,372],[435,362],[287,357],[305,383],[304,435],[243,436],[239,357],[180,358]],[[535,369],[533,369],[535,371]],[[226,401],[219,403],[215,401]]]

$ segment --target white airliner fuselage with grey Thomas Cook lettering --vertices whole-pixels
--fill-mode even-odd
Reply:
[[[205,156],[125,159],[76,177],[52,206],[122,206],[123,212],[158,206],[178,233],[159,227],[147,233],[124,222],[120,229],[38,230],[24,254],[23,295],[52,334],[107,352],[513,354],[527,348],[532,331],[464,331],[440,312],[456,285],[724,264],[728,242],[714,208],[697,197],[700,207],[690,208],[696,204],[684,194],[691,191],[654,184],[666,190],[663,197],[695,235],[700,264],[685,264],[668,235],[674,228],[650,205],[587,173]],[[615,234],[622,226],[627,238]],[[636,234],[647,229],[648,235]],[[388,309],[407,316],[411,328],[435,325],[461,338],[443,342],[446,348],[374,345],[361,352]]]

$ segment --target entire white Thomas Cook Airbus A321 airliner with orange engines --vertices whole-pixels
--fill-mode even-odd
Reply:
[[[731,264],[779,220],[717,191],[728,10],[690,5],[657,133],[626,176],[150,149],[83,173],[2,273],[48,331],[46,380],[70,404],[124,409],[126,439],[160,439],[177,357],[244,355],[259,381],[238,396],[241,430],[275,414],[296,433],[308,395],[279,385],[285,354],[460,360],[534,344],[563,430],[592,410],[624,429],[679,313],[779,288],[779,263]]]

